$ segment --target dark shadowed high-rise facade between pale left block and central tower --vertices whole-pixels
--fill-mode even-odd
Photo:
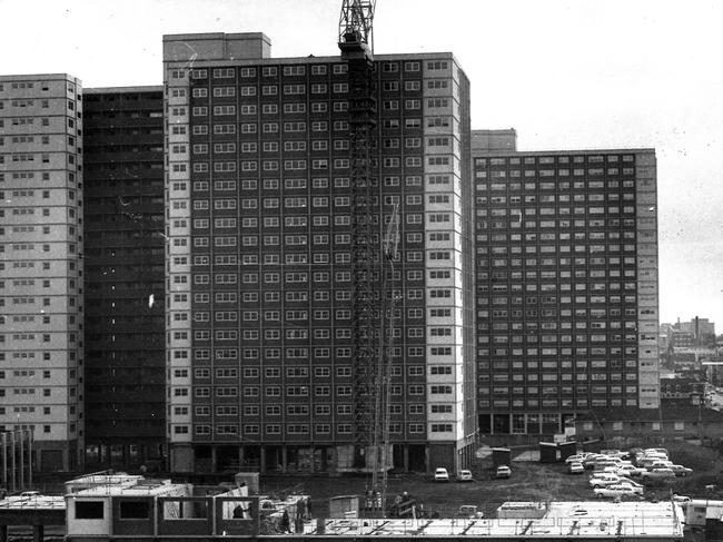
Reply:
[[[83,101],[85,462],[148,465],[166,441],[164,89]]]

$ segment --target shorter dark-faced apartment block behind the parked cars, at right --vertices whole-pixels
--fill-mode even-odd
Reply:
[[[473,147],[473,170],[481,433],[656,408],[654,150]]]

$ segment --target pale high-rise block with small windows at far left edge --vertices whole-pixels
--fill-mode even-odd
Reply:
[[[82,449],[81,85],[0,77],[0,431],[33,431],[39,470]]]

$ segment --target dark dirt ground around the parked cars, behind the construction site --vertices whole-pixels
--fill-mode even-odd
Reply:
[[[671,492],[694,497],[723,499],[723,461],[716,451],[684,443],[668,446],[671,461],[690,466],[693,475],[675,479],[664,484],[647,485],[646,499],[666,499]],[[389,502],[403,491],[408,492],[425,511],[434,511],[440,516],[455,516],[460,505],[474,504],[493,515],[505,501],[545,500],[592,500],[596,499],[590,484],[588,474],[567,474],[564,463],[512,462],[512,477],[495,480],[492,461],[477,460],[472,471],[475,477],[471,483],[438,483],[432,476],[422,474],[390,475],[388,483]],[[307,493],[314,501],[317,516],[328,514],[328,499],[335,495],[364,494],[368,479],[364,476],[303,477],[261,476],[261,493]],[[715,489],[706,486],[715,485]]]

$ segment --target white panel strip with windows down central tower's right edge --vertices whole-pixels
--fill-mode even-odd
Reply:
[[[450,57],[423,65],[427,437],[456,441],[464,436],[458,68]]]

